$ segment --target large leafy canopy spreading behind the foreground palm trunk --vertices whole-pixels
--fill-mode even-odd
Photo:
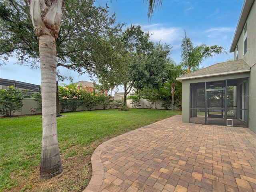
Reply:
[[[56,40],[57,66],[99,78],[111,76],[121,66],[117,38],[123,24],[108,16],[108,5],[95,6],[95,0],[65,0],[60,32]],[[1,64],[15,56],[19,64],[38,67],[38,37],[29,14],[29,1],[0,2]],[[111,80],[111,79],[110,79]]]

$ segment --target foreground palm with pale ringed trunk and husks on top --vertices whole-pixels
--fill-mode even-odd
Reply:
[[[62,172],[56,122],[56,44],[62,18],[62,0],[31,0],[30,15],[39,37],[42,83],[42,151],[40,178]]]

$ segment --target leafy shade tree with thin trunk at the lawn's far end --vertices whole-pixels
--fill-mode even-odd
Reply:
[[[160,83],[160,71],[164,68],[170,48],[166,44],[154,45],[149,38],[149,33],[135,25],[126,28],[122,34],[124,59],[119,79],[120,85],[124,85],[124,106],[132,88],[157,87]]]

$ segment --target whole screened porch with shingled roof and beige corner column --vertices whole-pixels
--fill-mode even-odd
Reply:
[[[182,121],[248,127],[250,67],[243,59],[217,63],[177,78]]]

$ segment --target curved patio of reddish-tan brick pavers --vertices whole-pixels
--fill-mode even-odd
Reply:
[[[181,115],[102,143],[84,192],[256,192],[256,134]]]

